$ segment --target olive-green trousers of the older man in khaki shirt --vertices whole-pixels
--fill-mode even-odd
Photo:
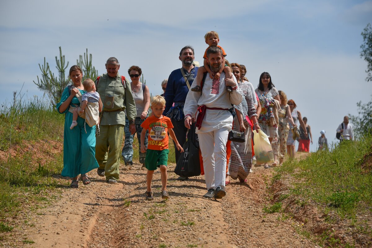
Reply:
[[[100,136],[96,137],[96,159],[99,169],[105,169],[106,182],[119,180],[121,144],[124,125],[100,125]]]

